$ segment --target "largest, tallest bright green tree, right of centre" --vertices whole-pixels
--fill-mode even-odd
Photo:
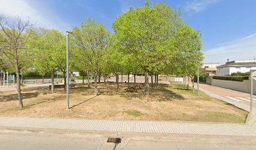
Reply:
[[[179,11],[159,3],[152,8],[149,1],[142,8],[129,9],[112,24],[119,49],[132,54],[145,73],[145,94],[149,94],[149,73],[164,65],[171,55],[169,39],[181,26]]]

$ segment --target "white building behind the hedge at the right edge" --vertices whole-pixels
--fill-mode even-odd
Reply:
[[[247,73],[256,69],[256,60],[228,61],[226,64],[217,67],[217,76],[230,76],[232,73]]]

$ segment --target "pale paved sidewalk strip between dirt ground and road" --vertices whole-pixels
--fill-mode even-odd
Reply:
[[[75,118],[62,119],[0,116],[0,128],[110,131],[117,133],[256,136],[256,129],[245,124],[176,123],[169,121],[120,121]]]

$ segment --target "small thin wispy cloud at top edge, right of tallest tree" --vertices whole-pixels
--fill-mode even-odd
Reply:
[[[186,2],[185,10],[186,11],[195,11],[200,12],[204,11],[211,4],[215,4],[220,0],[194,0],[191,2]]]

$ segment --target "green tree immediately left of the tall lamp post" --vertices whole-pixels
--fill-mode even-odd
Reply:
[[[54,93],[55,72],[61,69],[65,75],[65,36],[53,29],[39,29],[33,41],[33,60],[41,73],[51,73],[51,93]]]

